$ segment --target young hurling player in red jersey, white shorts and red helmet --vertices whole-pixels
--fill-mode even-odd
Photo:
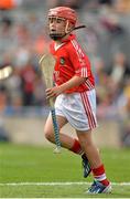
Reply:
[[[91,138],[91,130],[97,126],[95,80],[88,56],[72,34],[76,20],[76,12],[67,7],[48,11],[50,36],[53,40],[51,53],[56,57],[56,64],[55,86],[46,90],[46,97],[56,96],[55,111],[62,147],[82,156],[84,177],[90,171],[94,175],[88,192],[110,192],[110,181]],[[66,123],[75,128],[77,138],[61,133]],[[51,114],[44,133],[50,142],[55,143]]]

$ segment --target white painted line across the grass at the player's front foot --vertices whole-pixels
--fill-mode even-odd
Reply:
[[[113,186],[130,186],[130,182],[111,182]],[[0,184],[0,186],[71,186],[71,185],[87,185],[85,181],[66,181],[66,182],[8,182]]]

